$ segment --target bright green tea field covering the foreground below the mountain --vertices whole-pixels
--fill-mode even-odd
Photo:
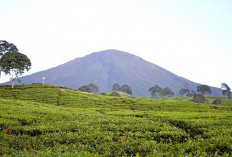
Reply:
[[[232,99],[0,86],[0,156],[232,156]]]

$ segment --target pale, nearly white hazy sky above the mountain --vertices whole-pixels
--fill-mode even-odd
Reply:
[[[232,86],[232,0],[0,0],[0,40],[31,59],[25,74],[118,49]]]

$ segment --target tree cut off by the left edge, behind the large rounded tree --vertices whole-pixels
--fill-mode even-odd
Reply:
[[[0,40],[0,59],[6,52],[13,52],[13,51],[18,52],[18,49],[14,44],[8,43],[5,40]],[[1,78],[1,72],[2,72],[2,69],[0,65],[0,78]]]

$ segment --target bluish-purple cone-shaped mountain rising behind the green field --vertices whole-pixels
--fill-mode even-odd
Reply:
[[[198,83],[177,76],[144,59],[118,50],[94,52],[57,67],[21,77],[22,84],[45,83],[77,89],[94,83],[100,92],[110,91],[114,83],[128,84],[135,96],[150,96],[148,89],[157,84],[171,88],[176,95],[181,88],[196,91]],[[212,95],[221,95],[221,89],[211,87]]]

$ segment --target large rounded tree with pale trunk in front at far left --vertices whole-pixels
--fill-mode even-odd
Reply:
[[[10,75],[11,85],[14,88],[15,81],[19,80],[19,76],[31,68],[30,59],[17,51],[6,52],[0,59],[1,69],[5,74]]]

